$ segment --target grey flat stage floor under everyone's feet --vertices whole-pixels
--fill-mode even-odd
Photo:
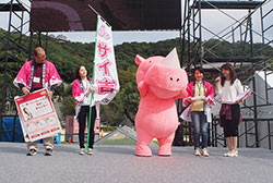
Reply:
[[[211,157],[194,157],[191,147],[174,147],[171,157],[133,155],[133,146],[95,146],[94,156],[78,155],[76,145],[56,145],[52,157],[27,157],[25,144],[0,143],[1,183],[270,183],[273,151],[239,149],[225,158],[224,148]],[[153,149],[155,154],[157,149]]]

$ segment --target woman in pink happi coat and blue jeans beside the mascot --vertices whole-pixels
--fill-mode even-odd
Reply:
[[[189,106],[191,121],[194,130],[194,155],[209,157],[207,151],[207,121],[211,119],[210,106],[214,105],[213,86],[203,81],[204,71],[201,66],[194,69],[194,81],[188,84],[188,97],[183,106]],[[202,135],[202,151],[200,148],[200,135]]]

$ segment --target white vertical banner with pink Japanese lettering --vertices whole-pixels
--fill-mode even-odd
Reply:
[[[95,44],[95,74],[93,74],[96,103],[109,103],[119,90],[118,72],[114,52],[111,26],[97,15]]]

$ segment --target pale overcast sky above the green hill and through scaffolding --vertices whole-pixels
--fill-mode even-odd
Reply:
[[[29,1],[28,0],[21,0],[23,3],[26,4],[26,7],[29,7]],[[9,0],[1,0],[2,2],[9,2]],[[183,1],[182,1],[183,5]],[[263,12],[268,12],[270,9],[273,8],[273,0],[269,0],[269,3],[263,7]],[[183,11],[183,7],[182,7]],[[232,17],[228,17],[224,13],[230,15]],[[240,20],[244,16],[247,15],[248,11],[246,10],[225,10],[224,13],[217,11],[217,10],[202,10],[202,25],[212,30],[213,33],[221,33],[222,30],[226,29],[223,32],[221,35],[229,32],[232,29],[232,24],[235,23],[235,20]],[[257,11],[253,16],[253,29],[254,32],[261,33],[261,20],[260,20],[260,11]],[[2,13],[0,12],[0,27],[7,29],[9,24],[9,13]],[[265,27],[270,26],[273,24],[273,13],[270,14],[266,19],[264,19],[264,25]],[[236,24],[234,25],[236,26]],[[28,29],[28,27],[25,27]],[[73,32],[73,33],[49,33],[54,35],[64,35],[67,38],[71,41],[81,41],[81,42],[91,42],[95,40],[95,33],[94,32]],[[213,37],[211,33],[205,30],[203,28],[202,32],[203,35],[203,40],[207,40]],[[239,33],[235,34],[235,38],[239,39]],[[253,34],[254,36],[254,41],[256,42],[261,42],[261,37],[258,34]],[[273,39],[273,28],[270,29],[265,34],[265,36],[272,40]],[[114,32],[114,42],[115,45],[119,45],[122,42],[131,42],[131,41],[158,41],[158,40],[165,40],[165,39],[170,39],[170,38],[176,38],[179,37],[179,30],[169,30],[169,32],[159,32],[159,30],[154,30],[154,32]],[[232,41],[232,38],[228,39]]]

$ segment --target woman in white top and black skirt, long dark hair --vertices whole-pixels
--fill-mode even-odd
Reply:
[[[244,88],[232,64],[222,65],[221,72],[222,77],[215,80],[215,93],[221,96],[219,124],[224,127],[224,135],[228,146],[228,151],[224,156],[237,157],[238,125],[241,122],[239,106],[241,100],[237,99],[237,97],[244,93]]]

